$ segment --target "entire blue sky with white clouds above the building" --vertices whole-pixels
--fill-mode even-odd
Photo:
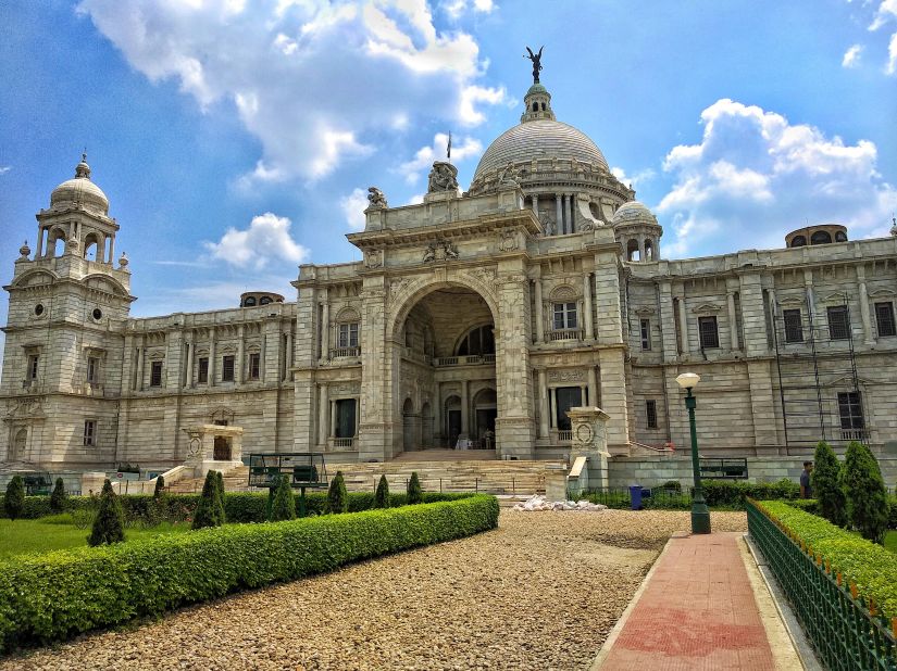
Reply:
[[[295,300],[299,263],[360,258],[369,186],[420,198],[449,130],[466,187],[519,122],[526,45],[668,257],[807,221],[887,235],[897,208],[897,0],[12,0],[0,22],[7,275],[86,147],[138,316]]]

